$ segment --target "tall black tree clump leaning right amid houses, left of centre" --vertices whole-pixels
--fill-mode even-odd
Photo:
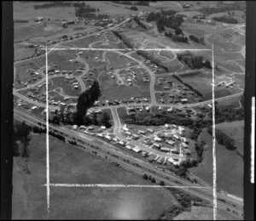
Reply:
[[[83,118],[87,110],[92,107],[96,100],[101,96],[101,89],[99,82],[94,81],[88,90],[85,90],[79,95],[77,111],[75,114],[75,122],[77,125],[83,124]]]

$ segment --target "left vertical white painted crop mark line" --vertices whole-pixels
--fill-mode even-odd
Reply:
[[[47,185],[47,214],[49,217],[49,100],[48,100],[48,55],[45,51],[45,87],[46,87],[46,185]]]

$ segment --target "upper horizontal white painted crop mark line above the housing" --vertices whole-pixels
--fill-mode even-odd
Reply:
[[[45,50],[45,48],[41,48]],[[212,49],[201,48],[49,48],[51,51],[71,51],[71,50],[83,50],[83,51],[212,51]]]

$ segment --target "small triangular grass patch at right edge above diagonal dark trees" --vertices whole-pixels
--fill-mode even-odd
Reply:
[[[243,155],[244,145],[244,121],[240,122],[222,122],[216,127],[226,133],[231,139],[234,139],[237,150]]]

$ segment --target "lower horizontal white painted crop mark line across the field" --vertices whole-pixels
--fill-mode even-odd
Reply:
[[[47,186],[48,184],[44,184]],[[140,184],[49,184],[49,186],[53,187],[87,187],[87,188],[94,188],[94,187],[102,187],[102,188],[204,188],[209,189],[211,187],[208,186],[175,186],[175,185],[140,185]]]

